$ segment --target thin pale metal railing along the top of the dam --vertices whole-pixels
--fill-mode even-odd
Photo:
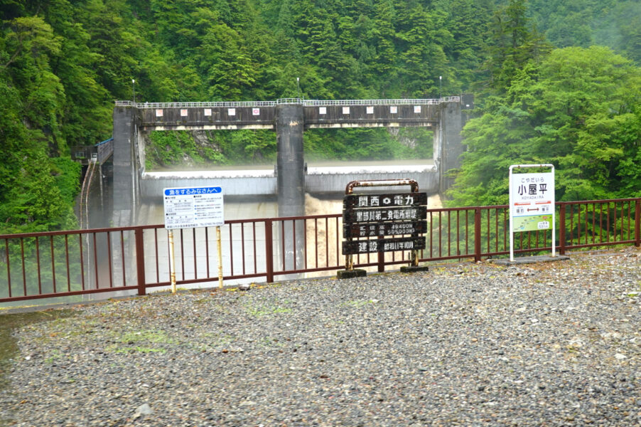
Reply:
[[[133,102],[116,101],[117,107],[136,108],[188,108],[188,107],[274,107],[279,104],[300,104],[303,106],[323,105],[437,105],[441,102],[460,102],[460,96],[447,96],[428,99],[398,100],[303,100],[301,98],[281,98],[275,101],[225,101],[225,102]]]

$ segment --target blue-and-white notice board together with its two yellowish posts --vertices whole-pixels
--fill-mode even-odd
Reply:
[[[220,186],[178,187],[163,189],[165,228],[169,239],[169,278],[176,293],[176,267],[173,230],[176,228],[216,227],[218,246],[218,286],[222,288],[222,252],[220,226],[225,224]]]

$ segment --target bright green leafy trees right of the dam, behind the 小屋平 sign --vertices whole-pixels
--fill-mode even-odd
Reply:
[[[507,204],[512,164],[554,164],[559,201],[641,196],[641,68],[603,46],[549,51],[518,15],[501,20],[519,30],[488,60],[450,204]]]

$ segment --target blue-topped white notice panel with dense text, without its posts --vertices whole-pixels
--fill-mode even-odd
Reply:
[[[163,189],[165,228],[195,228],[225,224],[219,186]]]

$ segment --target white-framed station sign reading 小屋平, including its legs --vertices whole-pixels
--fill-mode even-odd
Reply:
[[[515,169],[550,168],[550,172],[515,174]],[[514,233],[552,231],[552,257],[556,256],[554,214],[554,165],[510,166],[510,261],[514,261]]]

